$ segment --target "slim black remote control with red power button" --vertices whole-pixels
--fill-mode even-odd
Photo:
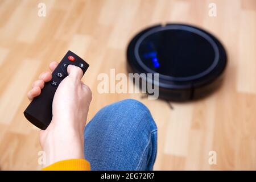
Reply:
[[[67,67],[69,64],[76,65],[82,69],[83,74],[89,67],[81,57],[68,51],[59,65],[52,72],[52,80],[44,84],[41,94],[35,97],[24,111],[25,117],[39,129],[45,130],[52,120],[52,101],[60,82],[68,76]]]

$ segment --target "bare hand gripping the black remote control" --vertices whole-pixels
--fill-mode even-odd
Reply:
[[[53,72],[57,62],[49,68]],[[40,143],[46,152],[46,165],[65,159],[84,159],[84,127],[92,92],[82,81],[82,70],[68,66],[68,76],[58,86],[52,103],[52,121],[40,131]],[[50,81],[51,72],[44,72],[32,84],[28,98],[39,96],[44,82]]]

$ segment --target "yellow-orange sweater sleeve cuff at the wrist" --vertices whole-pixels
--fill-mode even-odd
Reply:
[[[61,160],[43,168],[42,171],[90,171],[90,163],[85,159]]]

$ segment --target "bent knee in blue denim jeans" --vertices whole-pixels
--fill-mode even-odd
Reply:
[[[103,107],[86,125],[85,159],[92,170],[152,170],[157,128],[141,102],[123,100]]]

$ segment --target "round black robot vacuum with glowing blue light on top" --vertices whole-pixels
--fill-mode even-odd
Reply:
[[[209,32],[186,24],[166,24],[139,32],[127,48],[129,73],[159,73],[159,98],[195,100],[216,90],[223,78],[227,56]]]

